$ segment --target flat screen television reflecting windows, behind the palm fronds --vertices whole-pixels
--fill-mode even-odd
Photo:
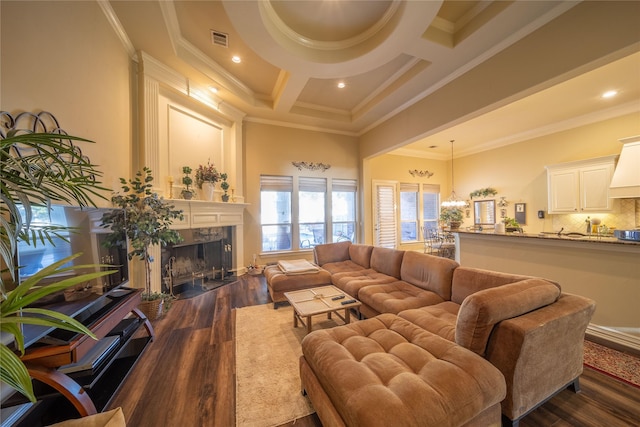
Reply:
[[[111,275],[95,279],[96,283],[87,283],[85,287],[97,285],[107,291],[128,282],[129,269],[125,237],[122,236],[121,245],[115,247],[104,245],[111,230],[102,226],[102,215],[112,210],[113,208],[81,208],[68,205],[52,205],[50,210],[46,207],[32,207],[32,229],[44,225],[56,225],[70,227],[71,230],[58,233],[59,237],[53,237],[51,242],[47,240],[44,242],[37,240],[35,244],[33,242],[30,244],[19,242],[15,267],[18,283],[22,283],[44,267],[78,253],[82,255],[71,261],[74,265],[109,264],[112,267],[108,269],[116,270]],[[103,267],[103,269],[106,268]],[[42,281],[41,284],[46,285],[47,282],[52,283],[60,279],[59,276],[52,276]]]

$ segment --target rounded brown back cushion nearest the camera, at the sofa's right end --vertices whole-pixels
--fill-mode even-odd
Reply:
[[[484,356],[493,326],[555,302],[560,289],[544,279],[526,279],[465,298],[458,312],[456,342]]]

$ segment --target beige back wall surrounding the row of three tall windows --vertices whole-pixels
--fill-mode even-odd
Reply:
[[[260,254],[260,175],[287,175],[358,179],[358,145],[354,137],[247,122],[244,125],[245,259]],[[326,172],[299,171],[292,161],[322,162]],[[311,253],[289,258],[311,259]],[[258,257],[258,263],[274,262],[286,255]]]

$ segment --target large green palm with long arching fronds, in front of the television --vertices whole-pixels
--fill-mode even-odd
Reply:
[[[4,135],[0,135],[4,136]],[[0,344],[0,380],[36,401],[29,371],[18,354],[24,354],[22,325],[40,325],[95,336],[73,318],[52,310],[30,307],[34,302],[80,283],[111,274],[98,271],[80,274],[40,286],[43,279],[70,270],[94,269],[95,265],[63,267],[79,254],[72,255],[43,268],[9,291],[5,277],[16,281],[15,253],[19,241],[36,246],[38,242],[53,243],[64,227],[31,227],[32,209],[50,208],[52,202],[74,203],[81,207],[95,206],[92,196],[104,198],[98,178],[102,175],[95,165],[77,150],[72,141],[91,142],[83,138],[58,133],[21,133],[11,130],[0,139],[0,332],[13,336],[15,350]],[[16,155],[17,153],[20,155]],[[20,209],[24,210],[24,217]]]

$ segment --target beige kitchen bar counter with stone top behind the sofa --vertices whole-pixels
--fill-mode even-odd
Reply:
[[[640,242],[613,237],[459,231],[465,267],[542,276],[596,301],[590,335],[640,350]]]

